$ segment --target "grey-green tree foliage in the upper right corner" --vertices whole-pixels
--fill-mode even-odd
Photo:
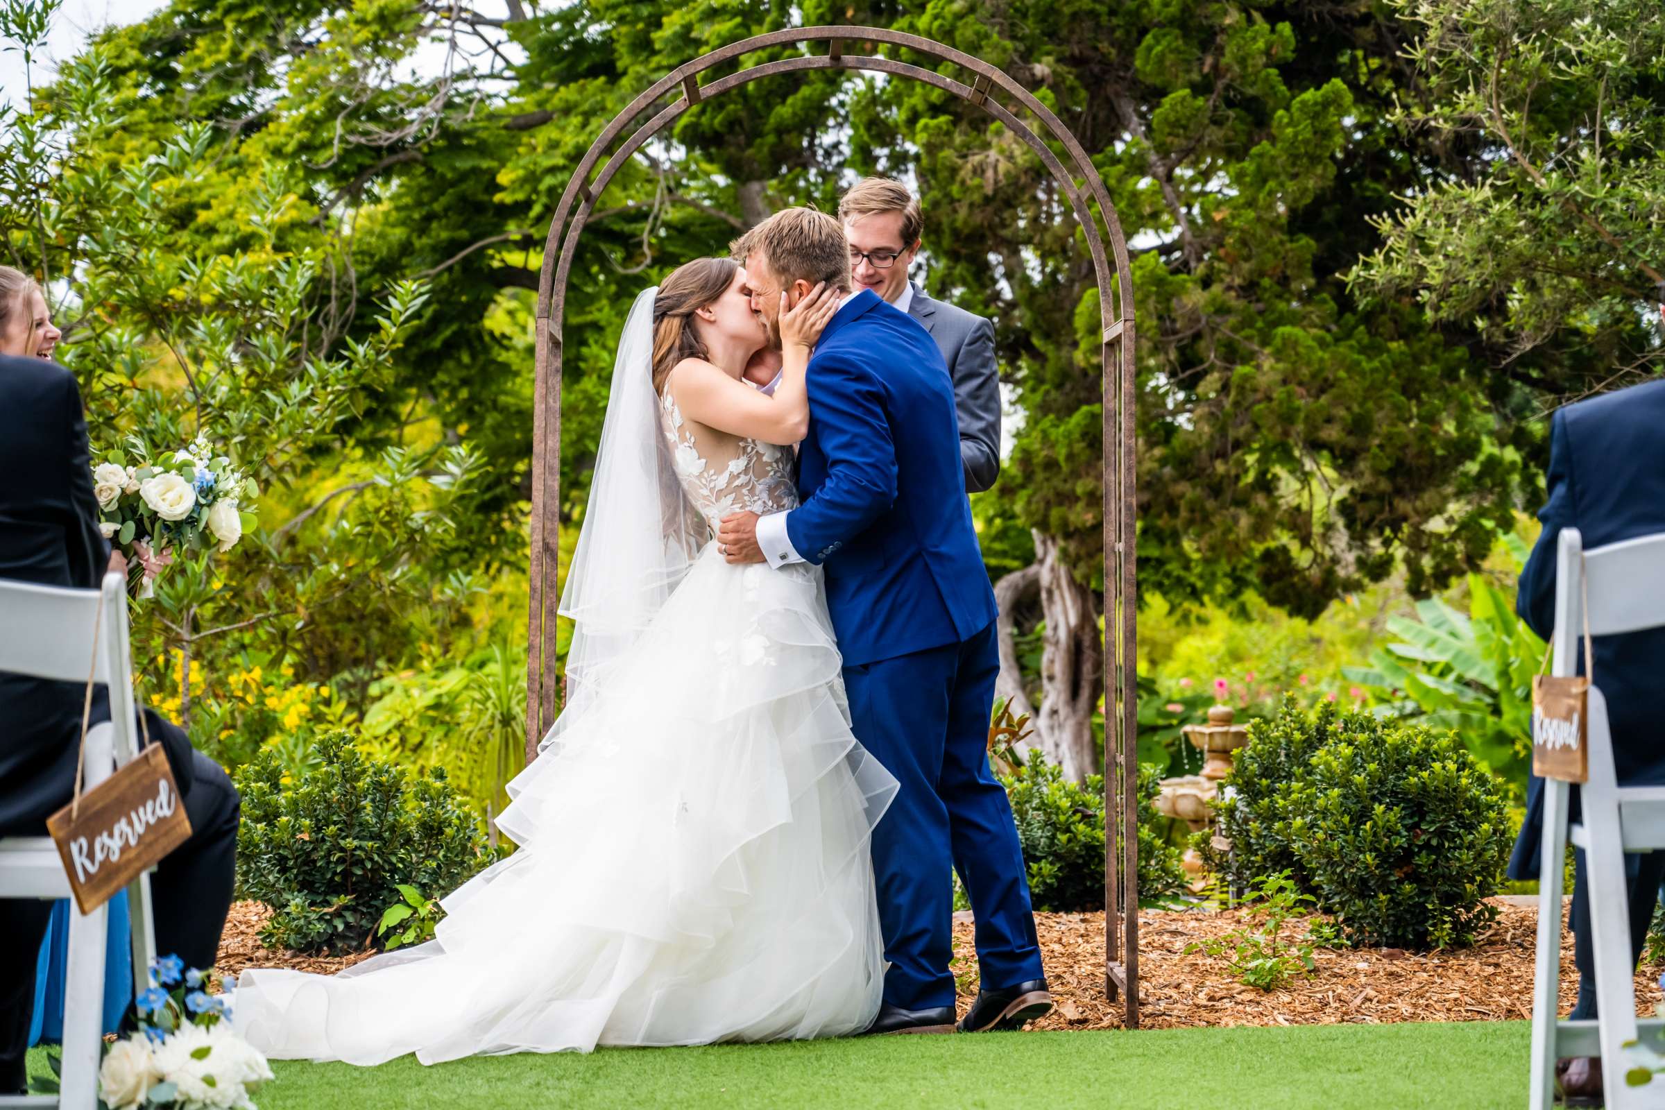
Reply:
[[[1395,0],[1427,88],[1395,118],[1477,156],[1379,220],[1362,295],[1475,321],[1545,403],[1665,371],[1665,8]]]

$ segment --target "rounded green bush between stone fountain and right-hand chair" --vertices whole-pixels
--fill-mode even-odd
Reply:
[[[1449,734],[1330,706],[1250,726],[1219,804],[1234,877],[1289,870],[1357,945],[1472,944],[1495,919],[1508,804]]]

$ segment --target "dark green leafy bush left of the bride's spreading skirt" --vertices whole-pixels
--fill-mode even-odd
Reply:
[[[441,769],[411,777],[323,736],[318,769],[285,780],[270,747],[236,777],[238,894],[271,907],[261,940],[318,952],[376,944],[400,884],[450,892],[490,862],[478,817]]]

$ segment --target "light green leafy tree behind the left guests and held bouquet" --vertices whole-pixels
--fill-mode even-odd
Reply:
[[[7,0],[0,28],[38,43],[53,7]],[[256,534],[211,561],[178,553],[135,609],[135,657],[171,656],[160,676],[142,666],[147,691],[175,692],[191,724],[191,676],[250,646],[361,691],[458,619],[491,533],[470,446],[376,416],[411,394],[395,369],[428,291],[360,288],[350,231],[315,218],[293,165],[206,120],[163,121],[112,53],[98,43],[0,120],[0,243],[47,281],[95,458],[205,438],[261,489]]]

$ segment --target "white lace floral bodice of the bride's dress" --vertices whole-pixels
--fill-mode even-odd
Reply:
[[[676,478],[713,533],[731,513],[769,514],[798,508],[791,448],[686,419],[669,386],[659,398],[659,426],[671,441]]]

